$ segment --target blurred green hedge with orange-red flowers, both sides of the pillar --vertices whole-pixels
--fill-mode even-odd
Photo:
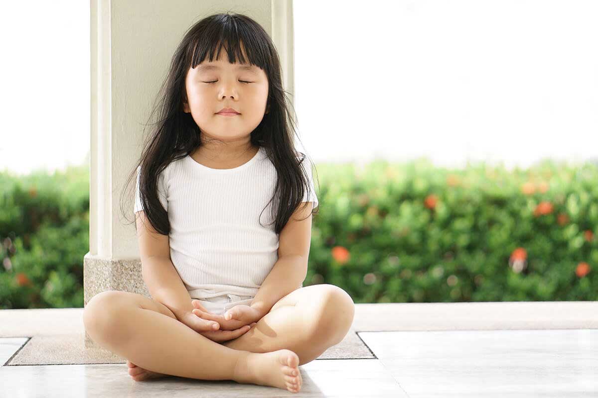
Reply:
[[[318,163],[304,286],[355,303],[598,300],[598,167]],[[83,306],[89,169],[0,174],[0,308]]]

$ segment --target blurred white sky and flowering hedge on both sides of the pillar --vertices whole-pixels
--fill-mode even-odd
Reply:
[[[304,286],[597,300],[598,3],[343,4],[294,2],[297,145],[320,202]],[[89,3],[0,14],[0,308],[83,307]]]

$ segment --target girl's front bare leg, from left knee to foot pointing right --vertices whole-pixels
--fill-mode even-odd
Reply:
[[[167,311],[167,312],[166,312]],[[170,313],[170,314],[168,314]],[[94,296],[83,311],[92,340],[149,371],[201,380],[234,380],[289,391],[298,357],[291,350],[234,350],[179,322],[163,304],[130,292]]]

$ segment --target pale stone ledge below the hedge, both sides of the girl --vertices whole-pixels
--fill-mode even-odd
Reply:
[[[0,310],[0,337],[83,333],[83,308]],[[355,304],[355,332],[598,329],[598,301]]]

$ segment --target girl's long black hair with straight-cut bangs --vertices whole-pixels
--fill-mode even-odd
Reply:
[[[275,200],[278,203],[273,221],[276,233],[280,234],[298,209],[306,191],[307,201],[313,202],[309,198],[309,175],[304,169],[306,163],[311,165],[312,162],[304,162],[306,155],[295,150],[291,134],[291,131],[295,132],[295,118],[290,115],[292,103],[286,97],[288,92],[282,87],[280,60],[270,36],[260,24],[243,14],[213,14],[191,26],[176,48],[157,97],[158,105],[150,115],[151,118],[158,110],[159,119],[153,124],[152,134],[144,140],[139,161],[126,184],[135,180],[137,169],[141,166],[139,198],[145,217],[162,235],[169,235],[170,223],[167,211],[158,199],[158,175],[170,162],[190,155],[202,144],[199,126],[191,113],[183,111],[183,102],[187,98],[185,78],[188,70],[202,63],[206,57],[209,61],[217,59],[223,45],[230,63],[236,63],[237,60],[240,63],[249,62],[264,70],[268,78],[269,111],[251,132],[251,144],[263,147],[276,168],[276,187],[269,202]],[[248,60],[243,56],[242,47]],[[310,214],[318,214],[318,211],[312,209]]]

